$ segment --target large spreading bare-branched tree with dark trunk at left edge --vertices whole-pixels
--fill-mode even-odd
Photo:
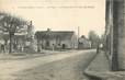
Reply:
[[[26,21],[21,18],[12,16],[8,13],[0,13],[0,31],[9,34],[9,53],[12,53],[12,39],[14,33],[21,32],[21,28],[24,28],[24,24],[26,24]]]

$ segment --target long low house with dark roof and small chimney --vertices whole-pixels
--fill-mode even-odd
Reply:
[[[77,36],[73,31],[39,31],[35,33],[38,50],[77,48]]]

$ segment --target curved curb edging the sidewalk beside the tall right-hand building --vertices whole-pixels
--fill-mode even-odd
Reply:
[[[100,53],[101,54],[101,53]],[[99,55],[99,54],[98,54]],[[100,56],[95,56],[93,60],[89,64],[87,69],[83,71],[83,73],[90,79],[90,80],[125,80],[125,71],[110,71],[110,70],[102,70],[100,67],[96,69],[91,69],[91,64]],[[91,68],[90,68],[91,67]]]

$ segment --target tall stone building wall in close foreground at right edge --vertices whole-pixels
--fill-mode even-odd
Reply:
[[[106,53],[112,70],[125,70],[125,0],[106,0]]]

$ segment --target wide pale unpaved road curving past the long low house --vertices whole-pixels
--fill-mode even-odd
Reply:
[[[87,80],[82,72],[94,55],[95,49],[92,49],[0,60],[0,80]]]

